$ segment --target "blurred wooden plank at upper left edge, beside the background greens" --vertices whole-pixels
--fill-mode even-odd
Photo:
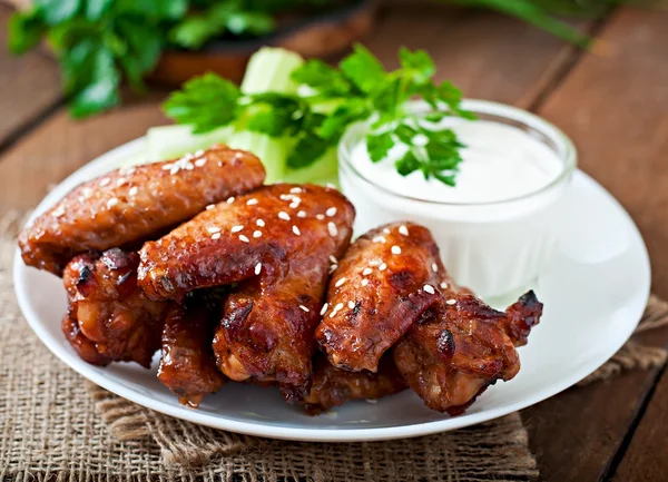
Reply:
[[[11,9],[0,4],[0,24],[7,26],[10,14]],[[13,57],[7,50],[6,31],[0,35],[0,146],[62,97],[56,62],[37,51]]]

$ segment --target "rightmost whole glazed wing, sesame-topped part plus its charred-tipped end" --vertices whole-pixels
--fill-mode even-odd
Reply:
[[[518,373],[514,346],[527,342],[542,311],[532,292],[501,313],[458,287],[429,230],[407,223],[357,239],[330,289],[316,329],[330,361],[374,370],[391,348],[410,387],[431,409],[453,415]]]

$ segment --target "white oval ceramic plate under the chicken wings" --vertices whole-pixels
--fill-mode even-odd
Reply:
[[[39,205],[52,206],[79,183],[140,159],[144,140],[121,146],[82,167]],[[60,360],[94,383],[140,405],[232,432],[302,441],[371,441],[425,435],[494,419],[540,402],[573,385],[605,363],[630,336],[649,295],[645,244],[622,207],[595,180],[577,173],[561,205],[561,253],[541,276],[537,293],[544,316],[520,348],[522,370],[490,387],[464,415],[450,417],[426,409],[410,391],[375,404],[352,402],[321,416],[285,404],[278,392],[228,384],[198,410],[178,404],[154,368],[117,363],[89,365],[60,332],[66,295],[60,279],[26,267],[17,252],[14,286],[37,336]]]

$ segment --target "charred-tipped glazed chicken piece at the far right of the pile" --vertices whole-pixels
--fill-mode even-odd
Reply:
[[[502,313],[443,279],[443,309],[415,323],[393,355],[430,409],[459,415],[489,385],[517,375],[520,358],[514,346],[525,343],[542,304],[529,292]]]

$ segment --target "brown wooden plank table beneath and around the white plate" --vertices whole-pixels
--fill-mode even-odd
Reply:
[[[0,24],[8,16],[0,6]],[[618,8],[601,21],[580,24],[600,37],[600,53],[489,12],[391,7],[367,45],[389,67],[402,45],[426,49],[439,76],[468,97],[513,104],[562,127],[579,147],[581,168],[640,227],[654,292],[668,299],[668,12]],[[166,122],[159,110],[164,91],[73,121],[52,60],[39,52],[13,59],[4,47],[0,213],[33,207],[82,164]],[[667,346],[668,329],[642,341]],[[522,416],[544,480],[668,480],[665,367],[568,390]]]

